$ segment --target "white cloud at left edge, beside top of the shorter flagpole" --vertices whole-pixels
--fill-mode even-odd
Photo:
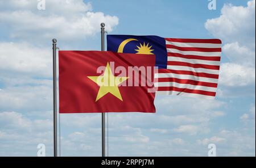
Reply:
[[[0,43],[0,70],[12,74],[50,77],[52,53],[50,49],[34,47],[28,43]]]

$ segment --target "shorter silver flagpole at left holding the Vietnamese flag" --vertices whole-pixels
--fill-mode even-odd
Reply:
[[[57,157],[57,73],[56,73],[56,47],[57,40],[52,39],[53,53],[53,153]]]

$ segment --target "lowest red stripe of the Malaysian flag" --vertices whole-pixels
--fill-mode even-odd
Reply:
[[[185,93],[192,93],[192,94],[201,94],[201,95],[207,95],[207,96],[215,96],[216,93],[212,91],[204,91],[204,90],[192,90],[192,89],[186,89],[186,88],[179,88],[179,87],[158,87],[158,91],[179,91],[179,92],[185,92]]]

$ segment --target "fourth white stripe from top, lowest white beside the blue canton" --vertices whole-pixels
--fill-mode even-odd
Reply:
[[[192,68],[190,66],[177,66],[177,65],[167,65],[167,69],[172,70],[188,70],[191,72],[197,72],[197,73],[209,73],[209,74],[216,74],[218,75],[220,70],[214,70],[214,69],[205,69],[205,68]]]

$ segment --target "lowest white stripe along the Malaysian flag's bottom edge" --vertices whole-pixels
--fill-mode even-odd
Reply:
[[[158,95],[181,95],[181,96],[189,96],[192,98],[201,98],[201,99],[214,99],[214,96],[201,95],[201,94],[193,94],[193,93],[185,93],[179,91],[156,91]]]

